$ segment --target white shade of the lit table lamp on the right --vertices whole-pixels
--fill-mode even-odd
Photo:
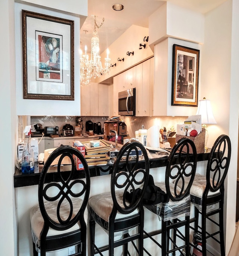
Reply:
[[[213,116],[212,107],[209,100],[199,100],[196,115],[202,116],[202,124],[217,124]]]

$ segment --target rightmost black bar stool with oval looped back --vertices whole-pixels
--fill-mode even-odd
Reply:
[[[230,158],[230,138],[224,134],[220,135],[209,154],[206,176],[197,173],[190,189],[191,202],[195,208],[195,217],[191,220],[195,226],[190,225],[190,228],[195,233],[202,235],[202,250],[196,248],[196,250],[202,252],[202,255],[207,255],[208,238],[212,238],[220,244],[221,255],[225,255],[223,228],[224,180],[229,168]],[[201,215],[201,226],[199,226],[199,214]],[[218,216],[218,221],[215,216]],[[191,244],[191,246],[195,247],[194,244]]]

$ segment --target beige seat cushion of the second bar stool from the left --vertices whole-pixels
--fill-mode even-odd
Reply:
[[[117,201],[119,203],[119,205],[124,208],[123,203],[120,204],[120,202],[122,202],[122,198],[123,198],[123,191],[122,190],[118,190],[116,192],[116,197],[117,197]],[[105,192],[105,193],[101,193],[95,196],[92,196],[89,201],[88,201],[89,206],[91,207],[91,209],[99,216],[101,217],[103,220],[105,220],[106,222],[109,222],[109,216],[112,212],[113,209],[113,199],[111,196],[111,192]],[[133,216],[135,214],[137,214],[139,211],[138,209],[134,210],[132,213],[129,214],[122,214],[122,213],[117,213],[115,219],[122,219],[128,216]]]

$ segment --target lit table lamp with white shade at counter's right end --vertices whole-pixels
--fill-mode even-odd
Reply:
[[[201,115],[202,118],[202,129],[205,129],[205,146],[204,146],[204,152],[208,151],[207,142],[208,142],[208,130],[206,124],[217,124],[213,113],[212,113],[212,107],[209,100],[206,100],[206,98],[203,98],[203,100],[199,100],[198,103],[198,110],[196,115]]]

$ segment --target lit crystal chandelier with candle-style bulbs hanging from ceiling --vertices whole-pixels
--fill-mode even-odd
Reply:
[[[90,60],[89,55],[87,54],[87,46],[85,46],[85,54],[82,54],[80,50],[80,82],[81,85],[89,85],[91,77],[100,77],[109,72],[110,69],[110,61],[109,58],[109,50],[107,49],[107,57],[105,58],[105,68],[102,67],[100,61],[100,48],[99,48],[99,36],[96,31],[96,27],[100,28],[103,23],[100,25],[96,24],[96,16],[94,16],[94,30],[93,30],[93,37],[91,38],[91,54]]]

